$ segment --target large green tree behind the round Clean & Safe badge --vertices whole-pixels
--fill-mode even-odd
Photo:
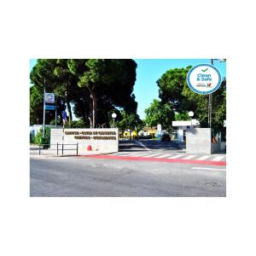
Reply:
[[[186,118],[186,113],[193,111],[201,127],[208,127],[208,96],[190,90],[186,76],[191,67],[174,68],[166,71],[157,84],[162,104],[169,103],[170,108],[178,113],[175,119]],[[223,127],[226,113],[226,81],[212,94],[212,128]]]

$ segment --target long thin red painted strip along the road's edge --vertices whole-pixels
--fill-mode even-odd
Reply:
[[[224,161],[209,161],[209,160],[182,160],[182,159],[165,159],[154,157],[131,157],[131,156],[118,156],[108,154],[95,154],[95,155],[79,155],[81,157],[96,158],[96,159],[113,159],[113,160],[131,160],[131,161],[155,161],[155,162],[172,162],[183,164],[196,164],[196,165],[209,165],[209,166],[226,166]]]

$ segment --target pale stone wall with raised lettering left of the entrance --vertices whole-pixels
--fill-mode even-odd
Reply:
[[[64,136],[63,136],[64,135]],[[101,151],[102,153],[112,153],[119,151],[119,130],[117,128],[111,129],[83,129],[70,128],[51,129],[50,144],[77,144],[79,143],[79,152],[87,150],[91,146],[93,151]],[[65,145],[66,149],[76,148],[75,145]],[[52,149],[56,145],[51,145]],[[60,147],[59,147],[60,148]]]

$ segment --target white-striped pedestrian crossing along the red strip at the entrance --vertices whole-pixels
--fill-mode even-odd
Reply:
[[[112,155],[117,155],[120,157],[141,157],[141,158],[156,158],[156,159],[170,159],[170,160],[206,160],[206,161],[226,161],[225,154],[183,154],[183,153],[155,153],[155,152],[118,152]]]

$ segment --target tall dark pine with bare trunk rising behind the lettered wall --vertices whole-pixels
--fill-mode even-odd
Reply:
[[[136,112],[137,103],[131,93],[136,80],[137,64],[132,60],[69,60],[68,67],[79,77],[79,86],[86,88],[92,102],[92,126],[97,125],[98,102],[108,102]]]

